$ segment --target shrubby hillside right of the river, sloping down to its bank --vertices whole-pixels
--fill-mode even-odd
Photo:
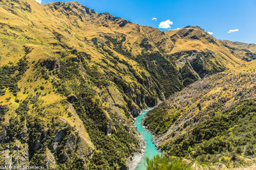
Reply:
[[[148,112],[167,155],[214,168],[255,165],[255,61],[196,81]],[[220,167],[218,167],[220,168]]]

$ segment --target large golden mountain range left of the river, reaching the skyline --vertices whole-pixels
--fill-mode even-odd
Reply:
[[[200,27],[163,32],[74,2],[0,4],[1,165],[127,169],[140,110],[255,55]]]

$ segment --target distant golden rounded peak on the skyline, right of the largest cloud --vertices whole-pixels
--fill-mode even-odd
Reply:
[[[177,65],[182,66],[184,61],[201,57],[211,57],[212,66],[231,68],[243,63],[241,56],[234,55],[230,49],[221,45],[220,40],[213,38],[200,27],[186,27],[177,31],[168,31],[175,42],[171,55],[175,57]],[[208,53],[206,56],[205,53]],[[207,59],[206,59],[207,60]],[[211,69],[211,64],[209,64]]]

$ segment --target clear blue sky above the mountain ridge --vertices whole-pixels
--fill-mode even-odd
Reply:
[[[51,2],[54,1],[42,0],[42,4]],[[160,22],[170,20],[168,23],[172,24],[171,27],[160,29],[161,31],[198,25],[207,32],[213,32],[212,36],[219,39],[256,43],[256,0],[78,0],[77,2],[98,13],[109,12],[115,17],[126,18],[140,25],[159,28]],[[157,20],[152,20],[154,17]],[[228,33],[230,30],[233,31]]]

